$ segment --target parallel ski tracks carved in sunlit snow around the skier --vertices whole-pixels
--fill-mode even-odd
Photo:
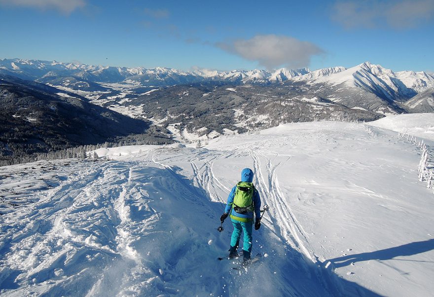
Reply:
[[[288,244],[287,250],[292,257],[295,256],[294,265],[303,271],[309,279],[312,277],[312,274],[316,275],[329,294],[341,295],[341,290],[338,289],[337,284],[334,283],[329,275],[324,275],[321,268],[319,268],[320,264],[318,258],[315,256],[313,248],[309,244],[301,224],[291,212],[289,202],[286,201],[285,195],[279,186],[276,169],[281,163],[287,163],[290,160],[291,155],[266,151],[264,150],[265,145],[265,143],[255,143],[247,153],[244,151],[245,149],[239,148],[233,148],[230,152],[220,151],[219,154],[210,158],[211,160],[205,162],[200,168],[198,168],[195,163],[195,161],[200,160],[193,160],[190,158],[189,162],[193,169],[193,175],[197,185],[207,189],[212,200],[217,200],[225,204],[227,197],[222,197],[219,192],[221,193],[223,190],[227,195],[231,189],[222,184],[215,176],[213,172],[215,162],[234,155],[239,157],[250,156],[253,161],[253,170],[255,173],[254,181],[261,196],[262,205],[266,204],[267,200],[271,203],[271,208],[268,213],[270,223],[272,223],[270,228],[274,226],[274,228],[276,228],[275,234],[280,233],[279,236],[282,242]],[[213,153],[216,153],[216,151]],[[270,155],[272,156],[272,159],[269,157]],[[266,160],[265,175],[262,173],[261,158]],[[285,159],[278,162],[276,165],[273,165],[273,161],[279,158]],[[263,219],[267,220],[266,217]],[[296,252],[294,253],[294,251]],[[297,292],[296,288],[292,289]],[[299,294],[302,295],[301,293]]]

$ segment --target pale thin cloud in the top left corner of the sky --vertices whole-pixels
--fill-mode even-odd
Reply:
[[[39,9],[57,9],[65,14],[70,14],[77,8],[86,5],[84,0],[0,0],[1,5],[35,7]]]

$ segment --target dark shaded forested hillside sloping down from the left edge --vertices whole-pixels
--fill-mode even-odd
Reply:
[[[0,75],[0,161],[145,133],[150,123],[42,83]]]

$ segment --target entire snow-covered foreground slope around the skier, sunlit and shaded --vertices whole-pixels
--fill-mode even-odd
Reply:
[[[419,149],[392,131],[421,121],[286,124],[199,149],[0,167],[0,294],[432,296],[434,193],[418,181]],[[253,231],[267,257],[247,271],[217,261],[245,167],[270,206]]]

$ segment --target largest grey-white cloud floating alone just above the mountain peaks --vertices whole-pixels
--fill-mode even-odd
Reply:
[[[289,68],[306,67],[313,55],[324,52],[313,43],[277,35],[257,35],[251,39],[219,42],[216,45],[244,59],[257,61],[268,69],[283,65]]]

